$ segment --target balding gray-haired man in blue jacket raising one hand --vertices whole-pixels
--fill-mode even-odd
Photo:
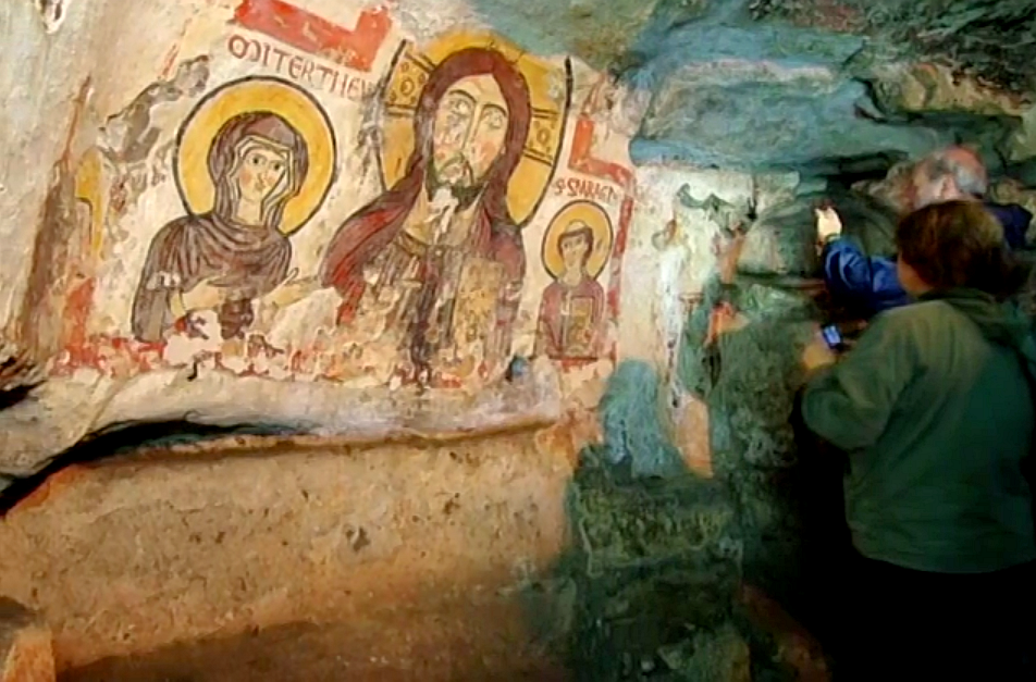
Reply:
[[[903,214],[943,201],[984,201],[989,189],[986,166],[966,147],[928,154],[914,164],[903,181],[897,197]],[[1012,249],[1025,248],[1033,214],[1014,203],[984,204],[1003,226],[1007,244]],[[816,218],[824,282],[832,296],[867,318],[911,302],[899,283],[893,259],[868,257],[854,241],[842,237],[841,221],[834,209],[821,209]]]

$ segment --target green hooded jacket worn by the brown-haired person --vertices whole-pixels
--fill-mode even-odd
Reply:
[[[865,557],[990,572],[1036,559],[1036,343],[1013,308],[975,290],[879,314],[809,382],[805,423],[849,454],[846,514]]]

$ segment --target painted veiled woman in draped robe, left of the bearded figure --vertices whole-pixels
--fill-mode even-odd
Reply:
[[[309,171],[306,140],[287,121],[254,111],[230,119],[209,148],[215,200],[151,240],[133,301],[133,335],[158,342],[194,310],[214,309],[224,339],[242,337],[255,299],[288,276],[292,245],[281,232],[287,202]]]

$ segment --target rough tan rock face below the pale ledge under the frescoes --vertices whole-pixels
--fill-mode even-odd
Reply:
[[[247,437],[65,469],[0,525],[0,592],[45,616],[62,670],[343,621],[369,648],[335,652],[341,674],[378,670],[382,656],[383,669],[430,672],[478,659],[448,650],[458,629],[472,650],[520,662],[514,587],[563,550],[574,463],[536,442],[530,431],[437,447]],[[86,679],[111,679],[96,674]]]

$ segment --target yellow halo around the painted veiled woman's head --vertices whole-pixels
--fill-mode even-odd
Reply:
[[[286,80],[248,76],[206,95],[187,115],[176,138],[176,188],[188,212],[212,210],[215,187],[207,164],[209,148],[224,123],[252,111],[278,114],[306,140],[309,171],[299,193],[288,200],[280,226],[284,234],[292,234],[313,216],[328,196],[336,151],[328,114],[308,92]]]

